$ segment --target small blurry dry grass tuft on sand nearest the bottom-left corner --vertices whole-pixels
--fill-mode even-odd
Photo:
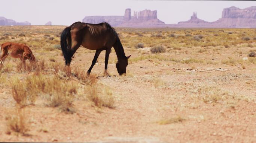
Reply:
[[[6,118],[6,134],[12,132],[28,136],[29,124],[24,109],[16,108],[14,112],[10,112]]]

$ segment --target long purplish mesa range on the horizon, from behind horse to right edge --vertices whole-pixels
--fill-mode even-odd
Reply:
[[[215,22],[207,22],[199,19],[196,12],[193,12],[188,21],[177,24],[165,24],[157,18],[156,10],[143,10],[134,12],[131,16],[131,9],[126,9],[124,16],[86,16],[83,19],[86,23],[108,22],[114,27],[134,28],[256,28],[256,6],[240,9],[229,7],[223,9],[222,18]]]

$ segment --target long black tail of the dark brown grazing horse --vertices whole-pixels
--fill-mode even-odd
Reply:
[[[71,62],[71,56],[68,53],[68,50],[71,47],[69,47],[68,44],[67,44],[67,38],[71,39],[70,30],[71,30],[70,27],[65,28],[63,30],[62,34],[61,34],[61,39],[60,39],[61,51],[62,51],[62,54],[63,54],[63,58],[65,60],[66,66],[69,66],[70,62]],[[69,40],[69,42],[70,42],[70,45],[71,45],[71,40]]]

